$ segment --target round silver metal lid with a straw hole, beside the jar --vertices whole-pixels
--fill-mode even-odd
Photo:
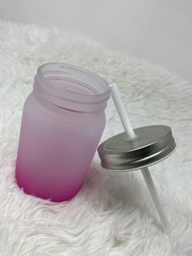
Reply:
[[[152,166],[170,156],[176,148],[168,126],[145,126],[134,129],[136,139],[125,132],[107,139],[98,147],[102,166],[110,171],[126,171]]]

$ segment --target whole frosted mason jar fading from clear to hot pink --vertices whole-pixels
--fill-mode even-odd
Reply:
[[[24,103],[15,177],[20,188],[67,201],[85,181],[105,126],[107,82],[70,64],[43,64]]]

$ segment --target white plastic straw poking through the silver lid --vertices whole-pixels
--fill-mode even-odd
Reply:
[[[135,136],[133,127],[131,126],[131,123],[129,121],[129,117],[125,111],[124,104],[120,97],[120,92],[117,89],[116,83],[111,84],[109,87],[111,89],[112,99],[113,99],[114,103],[116,104],[116,109],[120,115],[120,120],[122,121],[124,130],[126,131],[126,133],[128,135],[128,139],[133,139],[136,136]],[[151,174],[147,167],[142,168],[142,175],[146,181],[146,186],[149,189],[152,200],[155,204],[155,208],[156,208],[156,210],[159,214],[159,217],[163,223],[164,231],[170,232],[171,225],[168,222],[168,218],[167,218],[166,214],[164,213],[164,209],[163,209],[162,205],[160,205],[159,196],[158,196],[158,193],[155,188],[155,183],[153,182],[153,179],[152,179]]]

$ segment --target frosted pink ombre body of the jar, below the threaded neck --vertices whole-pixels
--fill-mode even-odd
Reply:
[[[67,201],[85,181],[105,126],[105,113],[56,113],[31,93],[23,110],[15,175],[24,192]]]

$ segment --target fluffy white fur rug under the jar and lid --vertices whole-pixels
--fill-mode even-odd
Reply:
[[[34,25],[0,22],[0,60],[0,255],[192,255],[191,85],[144,60]],[[177,151],[150,169],[172,222],[169,235],[161,229],[140,171],[109,174],[97,154],[72,201],[41,201],[17,187],[24,99],[37,67],[50,61],[80,65],[117,82],[134,127],[172,127]],[[109,100],[103,139],[122,130]]]

